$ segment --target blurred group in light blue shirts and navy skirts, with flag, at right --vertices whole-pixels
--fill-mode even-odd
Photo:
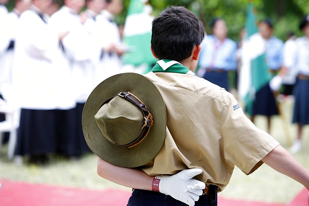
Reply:
[[[253,34],[240,31],[238,43],[227,37],[224,19],[213,19],[210,26],[212,35],[202,43],[197,76],[227,91],[237,90],[234,94],[244,103],[252,96],[252,107],[244,105],[246,114],[253,123],[256,115],[266,116],[268,133],[271,117],[282,114],[278,104],[292,101],[292,122],[298,124],[298,134],[289,150],[298,152],[302,148],[303,126],[309,124],[309,15],[299,21],[304,36],[297,38],[291,31],[285,42],[273,34],[269,18],[259,21]],[[250,85],[260,87],[254,90]]]

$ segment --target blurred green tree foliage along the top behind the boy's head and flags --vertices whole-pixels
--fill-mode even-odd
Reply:
[[[211,34],[210,21],[220,17],[226,21],[228,35],[238,41],[239,32],[244,27],[245,15],[250,0],[149,0],[153,7],[153,15],[157,16],[167,6],[185,6],[192,10],[203,22],[205,31]],[[129,0],[123,0],[125,9],[117,19],[123,24]],[[302,35],[298,29],[300,19],[309,13],[308,0],[251,0],[256,7],[258,19],[270,18],[274,23],[274,34],[286,40],[286,34],[294,31]]]

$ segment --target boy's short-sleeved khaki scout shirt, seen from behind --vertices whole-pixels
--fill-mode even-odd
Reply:
[[[140,167],[149,175],[203,170],[196,179],[222,191],[236,165],[245,174],[279,143],[245,116],[225,89],[188,74],[149,72],[166,106],[167,130],[158,155]],[[155,101],[155,100],[154,100]],[[154,124],[156,120],[154,117]]]

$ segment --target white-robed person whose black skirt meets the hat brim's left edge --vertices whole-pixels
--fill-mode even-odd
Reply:
[[[84,152],[90,151],[82,129],[82,113],[87,97],[94,89],[95,64],[92,60],[93,43],[91,34],[85,27],[87,15],[79,14],[85,6],[85,0],[65,0],[57,12],[49,19],[49,26],[53,31],[69,31],[61,41],[61,47],[66,59],[69,62],[73,79],[74,96],[76,108],[72,111],[71,117],[75,123],[71,128],[75,132],[67,138],[67,156],[79,157]],[[72,119],[72,120],[73,120]]]

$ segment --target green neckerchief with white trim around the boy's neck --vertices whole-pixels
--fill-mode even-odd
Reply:
[[[187,67],[174,60],[159,60],[151,69],[151,72],[173,72],[195,75]]]

